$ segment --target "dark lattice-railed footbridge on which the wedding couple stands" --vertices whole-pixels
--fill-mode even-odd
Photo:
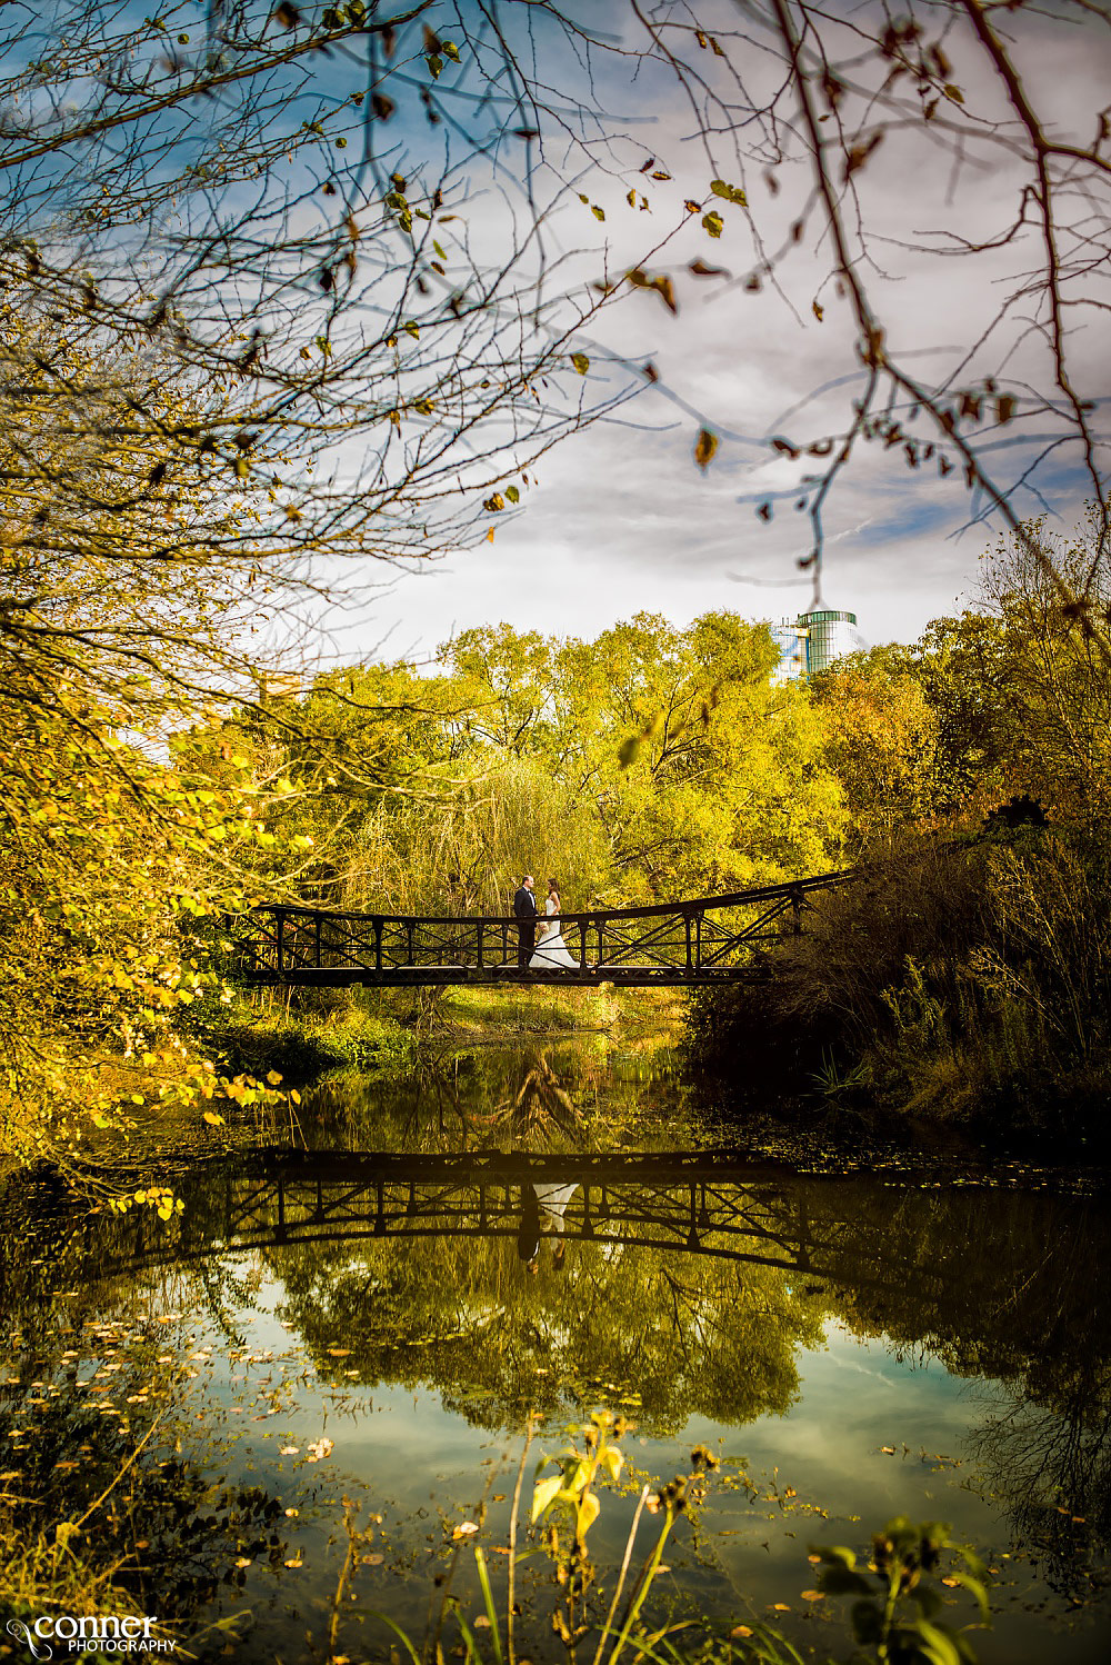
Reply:
[[[565,969],[519,966],[519,921],[499,914],[359,914],[266,902],[228,921],[228,929],[241,974],[279,987],[712,987],[748,977],[752,946],[797,936],[815,897],[855,877],[855,869],[843,869],[727,896],[560,914],[577,961]]]

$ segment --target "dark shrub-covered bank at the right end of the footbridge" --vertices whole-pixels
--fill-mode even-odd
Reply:
[[[913,836],[752,979],[692,1002],[687,1061],[738,1104],[883,1114],[1103,1161],[1111,867],[1091,832]]]

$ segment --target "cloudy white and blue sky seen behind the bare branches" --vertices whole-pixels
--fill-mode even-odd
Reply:
[[[609,30],[619,45],[632,43],[635,23],[629,0],[564,3],[577,8],[592,27]],[[862,47],[853,30],[860,22],[880,28],[888,13],[881,0],[845,0],[840,12],[838,5],[840,0],[833,0],[822,8],[827,45],[833,57],[848,60],[845,73],[855,85],[875,87],[886,73],[886,62],[868,43]],[[474,10],[471,0],[461,0],[464,20]],[[805,471],[820,471],[823,465],[812,461],[805,448],[845,431],[863,370],[850,306],[837,295],[828,236],[813,203],[810,158],[783,123],[775,132],[760,132],[758,123],[742,127],[733,120],[743,100],[730,75],[742,75],[747,93],[758,105],[782,82],[780,58],[763,52],[767,35],[758,28],[750,40],[740,38],[738,32],[750,28],[747,20],[755,15],[752,7],[737,0],[699,0],[699,20],[717,28],[727,48],[718,57],[709,47],[702,53],[690,50],[690,38],[685,42],[687,57],[704,77],[707,108],[717,125],[717,133],[705,142],[669,72],[640,67],[634,77],[632,60],[602,53],[590,93],[597,93],[609,112],[609,132],[590,166],[585,153],[572,145],[564,145],[559,155],[559,122],[552,112],[559,113],[560,98],[577,90],[577,72],[565,55],[559,57],[544,22],[547,13],[524,7],[504,10],[516,20],[542,20],[541,35],[532,42],[537,47],[532,73],[547,77],[556,92],[549,113],[541,118],[547,127],[544,153],[552,168],[546,176],[539,165],[541,196],[552,193],[556,173],[562,173],[564,181],[575,175],[574,188],[546,226],[551,255],[562,256],[560,281],[569,283],[572,295],[589,296],[590,285],[604,275],[619,278],[644,263],[652,275],[674,281],[677,315],[667,311],[659,293],[627,290],[617,306],[584,328],[569,343],[589,358],[580,383],[584,395],[597,400],[635,383],[637,396],[531,466],[521,509],[492,514],[489,528],[479,524],[471,546],[409,571],[368,563],[364,573],[354,574],[346,606],[333,608],[329,598],[318,649],[321,663],[334,658],[421,659],[452,633],[482,623],[507,621],[519,629],[594,636],[635,613],[664,614],[677,624],[715,608],[778,619],[805,609],[813,598],[810,576],[797,564],[812,543],[808,516],[795,504],[813,496]],[[449,12],[447,0],[437,0],[421,13],[411,25],[414,42],[426,20],[446,28]],[[640,12],[662,17],[669,7],[649,5]],[[672,10],[672,15],[680,13]],[[995,376],[1000,390],[1015,395],[1013,421],[988,431],[985,453],[1000,485],[1008,488],[1043,445],[1053,445],[1061,433],[1059,418],[1044,410],[1044,401],[1039,410],[1034,396],[1034,390],[1053,395],[1053,366],[1038,298],[1030,293],[1030,275],[1041,256],[1036,216],[1023,198],[1030,173],[1011,142],[1013,133],[991,127],[1005,122],[1010,112],[963,7],[956,0],[940,0],[921,5],[920,15],[926,30],[923,38],[945,43],[945,73],[951,75],[955,97],[948,103],[941,100],[933,127],[920,120],[900,125],[881,118],[878,105],[865,108],[862,98],[850,100],[850,125],[855,128],[860,122],[865,138],[883,127],[883,142],[852,181],[868,228],[863,246],[855,248],[857,270],[867,278],[891,348],[923,380],[936,383],[951,376],[960,393],[981,388],[985,376]],[[1008,50],[1046,132],[1089,143],[1111,85],[1111,27],[1071,0],[1046,0],[1039,8],[993,8],[991,15],[1006,32]],[[830,22],[838,17],[842,22]],[[447,65],[444,78],[462,77],[466,93],[466,77],[472,70],[467,68],[466,33],[461,40],[462,62]],[[422,75],[419,52],[414,62]],[[329,87],[336,82],[333,92],[346,108],[343,77],[353,73],[349,67],[344,70],[338,58],[329,58],[316,68]],[[306,85],[316,88],[311,77]],[[913,103],[913,88],[906,82],[903,87]],[[316,92],[319,88],[311,97]],[[308,102],[284,112],[294,125],[309,110],[311,97],[306,92]],[[722,118],[725,105],[714,105],[714,98],[732,98],[733,113]],[[397,165],[411,175],[406,150],[419,153],[424,147],[427,153],[452,135],[447,123],[429,137],[416,97],[407,93],[399,100],[397,118],[386,135],[394,147],[391,157],[396,152]],[[780,113],[788,122],[792,107]],[[960,160],[951,145],[946,148],[938,138],[943,118],[950,117],[953,132],[963,123]],[[346,153],[354,155],[363,122],[354,107],[349,120],[356,127]],[[491,108],[489,120],[501,122],[504,133],[506,107]],[[466,145],[462,155],[467,155]],[[516,150],[506,145],[504,155],[521,157],[524,150],[519,143]],[[710,195],[715,176],[743,186],[747,211]],[[499,220],[492,206],[492,183],[497,181],[476,171],[466,185],[452,185],[452,223],[437,223],[444,243],[466,236],[482,248],[487,263],[497,261],[504,233],[504,213]],[[1063,258],[1086,261],[1083,275],[1069,278],[1066,328],[1079,396],[1104,405],[1111,393],[1111,260],[1106,251],[1111,170],[1089,186],[1089,198],[1066,191],[1061,203],[1068,225]],[[632,205],[627,201],[630,188]],[[1103,201],[1096,201],[1099,191]],[[684,220],[687,198],[720,213],[718,236],[704,228],[700,211]],[[517,208],[519,196],[514,211]],[[852,200],[847,211],[852,220],[857,211]],[[1008,235],[1016,216],[1018,230]],[[684,228],[662,253],[645,253],[665,228],[680,221]],[[793,240],[797,221],[802,235]],[[1083,241],[1086,235],[1091,246]],[[758,288],[752,283],[758,265],[753,236],[763,250],[782,251],[773,281],[763,273]],[[968,256],[973,243],[983,245],[983,251]],[[725,275],[695,276],[692,260],[709,261]],[[451,258],[447,266],[444,281],[451,283]],[[381,286],[376,293],[369,283],[368,290],[381,313],[386,305]],[[1106,311],[1089,305],[1099,301]],[[298,325],[311,311],[308,303],[299,305],[303,316],[291,308]],[[319,295],[316,305],[326,305]],[[432,295],[429,305],[439,306],[441,296]],[[507,318],[507,328],[516,325],[517,320]],[[371,318],[371,326],[381,328],[381,316]],[[659,378],[652,385],[640,375],[647,363]],[[569,380],[577,383],[574,375]],[[694,460],[702,425],[718,436],[717,455],[705,473]],[[906,428],[921,440],[931,436],[926,430],[925,418]],[[383,431],[381,423],[378,431]],[[800,446],[802,456],[792,460],[773,450],[775,438]],[[368,445],[373,450],[369,435],[353,443],[349,475],[354,480]],[[1109,460],[1104,450],[1104,466]],[[507,466],[512,465],[507,453]],[[341,460],[339,466],[346,463]],[[487,483],[481,495],[489,490]],[[1089,495],[1078,450],[1059,446],[1046,453],[1028,485],[1016,488],[1013,501],[1021,514],[1043,513],[1049,526],[1068,531]],[[762,504],[767,518],[757,513]],[[865,643],[911,641],[930,618],[975,599],[981,558],[998,534],[985,519],[968,524],[976,508],[960,470],[938,480],[936,460],[911,470],[901,446],[863,446],[828,498],[823,603],[853,611]],[[492,531],[489,541],[487,529]]]

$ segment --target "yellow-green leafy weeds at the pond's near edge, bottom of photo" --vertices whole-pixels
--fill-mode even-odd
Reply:
[[[570,1665],[805,1665],[795,1643],[772,1625],[733,1625],[727,1635],[715,1635],[709,1623],[690,1620],[652,1623],[645,1607],[660,1573],[664,1548],[682,1515],[705,1500],[717,1457],[705,1445],[690,1454],[690,1474],[677,1475],[659,1490],[642,1487],[629,1528],[620,1567],[609,1602],[599,1583],[599,1570],[590,1558],[587,1537],[602,1512],[599,1487],[615,1487],[624,1470],[620,1439],[627,1429],[624,1417],[595,1412],[575,1432],[580,1444],[569,1444],[536,1465],[529,1528],[542,1535],[552,1560],[556,1600],[551,1627],[560,1638]],[[517,1550],[522,1482],[536,1424],[529,1420],[517,1487],[512,1500],[507,1550],[507,1582],[499,1600],[491,1582],[486,1548],[471,1542],[482,1612],[467,1617],[464,1603],[451,1583],[459,1567],[459,1553],[446,1577],[439,1608],[429,1615],[426,1635],[416,1640],[386,1613],[374,1613],[397,1638],[411,1665],[444,1665],[447,1653],[464,1665],[526,1665],[519,1662],[514,1637],[516,1563],[536,1555],[536,1547]],[[554,1474],[547,1472],[556,1469]],[[639,1543],[645,1515],[659,1520],[647,1547]],[[471,1527],[474,1533],[481,1528]],[[358,1542],[348,1523],[349,1543]],[[469,1542],[469,1540],[467,1540]],[[462,1550],[462,1543],[457,1545]],[[349,1548],[348,1562],[354,1550]],[[506,1552],[502,1552],[506,1553]],[[863,1565],[857,1553],[842,1545],[812,1545],[810,1558],[822,1565],[818,1593],[852,1597],[848,1615],[855,1650],[847,1665],[976,1665],[976,1652],[968,1627],[956,1628],[941,1617],[953,1603],[951,1590],[966,1590],[976,1602],[973,1623],[988,1628],[988,1588],[983,1562],[968,1548],[953,1543],[943,1522],[913,1525],[898,1517],[872,1538],[872,1552]],[[343,1598],[341,1575],[336,1598],[336,1623]],[[602,1607],[605,1612],[602,1613]],[[457,1640],[447,1647],[446,1625],[454,1622]],[[338,1643],[336,1623],[331,1632],[333,1653]],[[808,1655],[813,1665],[815,1655]],[[835,1665],[827,1655],[827,1665]]]

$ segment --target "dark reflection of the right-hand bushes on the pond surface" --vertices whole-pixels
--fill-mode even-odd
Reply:
[[[1106,1202],[905,1192],[878,1219],[880,1204],[881,1194],[865,1204],[872,1230],[903,1277],[881,1292],[853,1289],[847,1242],[840,1317],[860,1334],[923,1345],[955,1375],[1001,1384],[996,1409],[968,1437],[981,1489],[1006,1508],[1054,1588],[1091,1593],[1093,1580],[1108,1577],[1099,1557],[1111,1543]]]

